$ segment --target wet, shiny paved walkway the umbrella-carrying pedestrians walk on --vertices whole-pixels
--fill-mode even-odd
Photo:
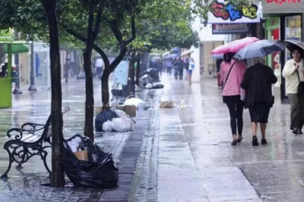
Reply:
[[[146,155],[137,170],[141,177],[136,177],[129,201],[303,201],[304,136],[288,129],[289,105],[276,99],[269,144],[257,147],[251,144],[245,110],[244,140],[232,146],[229,112],[215,79],[192,85],[166,76],[162,81],[163,99],[169,97],[182,108],[159,109],[154,144],[145,137]]]

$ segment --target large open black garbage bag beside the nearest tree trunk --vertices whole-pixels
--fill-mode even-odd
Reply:
[[[72,152],[68,142],[74,137],[82,139],[82,147],[88,151],[88,161],[80,161]],[[79,134],[63,141],[63,166],[65,174],[76,186],[112,188],[117,186],[118,168],[112,155],[105,153],[90,138]]]

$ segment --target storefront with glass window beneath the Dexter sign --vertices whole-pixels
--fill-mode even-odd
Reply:
[[[301,40],[303,38],[302,19],[304,11],[304,4],[299,1],[274,1],[263,0],[263,16],[268,17],[266,20],[267,38],[277,39],[279,35],[280,40],[296,39]],[[273,23],[273,24],[272,24]],[[279,25],[278,25],[279,23]],[[268,25],[270,25],[268,27]],[[278,33],[279,29],[279,33]],[[285,61],[290,59],[290,53],[286,49],[280,54],[280,66],[281,72]],[[279,58],[277,56],[277,58]],[[268,65],[274,68],[278,63],[275,62],[275,56],[268,57]],[[282,74],[281,74],[282,75]],[[285,90],[285,79],[282,76],[280,84],[281,101],[284,102],[287,99]]]

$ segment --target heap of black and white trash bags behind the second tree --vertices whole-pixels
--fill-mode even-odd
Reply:
[[[95,117],[95,130],[127,132],[134,130],[135,121],[122,110],[112,108],[99,113]]]

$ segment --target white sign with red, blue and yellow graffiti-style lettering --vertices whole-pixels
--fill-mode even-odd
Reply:
[[[257,13],[257,5],[251,4],[242,10],[237,10],[232,4],[225,6],[224,1],[214,1],[211,12],[208,14],[208,23],[257,23],[260,16]]]

